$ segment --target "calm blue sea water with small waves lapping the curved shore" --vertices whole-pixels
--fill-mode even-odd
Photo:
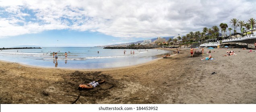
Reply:
[[[124,54],[124,51],[125,54]],[[132,51],[132,54],[130,52]],[[134,51],[134,54],[133,54]],[[58,61],[54,61],[57,52]],[[68,56],[65,58],[65,52]],[[70,52],[70,53],[69,53]],[[157,49],[103,49],[103,47],[43,47],[36,49],[12,49],[0,51],[0,60],[32,66],[58,68],[115,68],[149,62],[157,55],[171,54]]]

